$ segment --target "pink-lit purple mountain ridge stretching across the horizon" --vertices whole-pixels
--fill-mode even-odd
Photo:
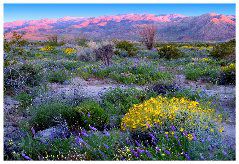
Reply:
[[[155,24],[161,41],[226,41],[235,38],[234,15],[208,13],[200,16],[181,14],[122,14],[100,17],[63,17],[41,20],[18,20],[4,23],[7,38],[13,31],[26,32],[30,40],[45,40],[47,35],[76,36],[92,39],[138,40],[138,26]]]

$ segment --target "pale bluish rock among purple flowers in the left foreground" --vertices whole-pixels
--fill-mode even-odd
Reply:
[[[38,131],[34,138],[39,139],[42,143],[52,142],[54,139],[64,139],[70,136],[70,131],[65,124],[51,127],[42,131]]]

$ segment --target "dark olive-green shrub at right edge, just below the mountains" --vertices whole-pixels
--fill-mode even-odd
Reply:
[[[227,58],[233,54],[235,54],[235,40],[231,40],[226,43],[218,43],[216,46],[213,47],[211,51],[211,56],[215,58]]]

